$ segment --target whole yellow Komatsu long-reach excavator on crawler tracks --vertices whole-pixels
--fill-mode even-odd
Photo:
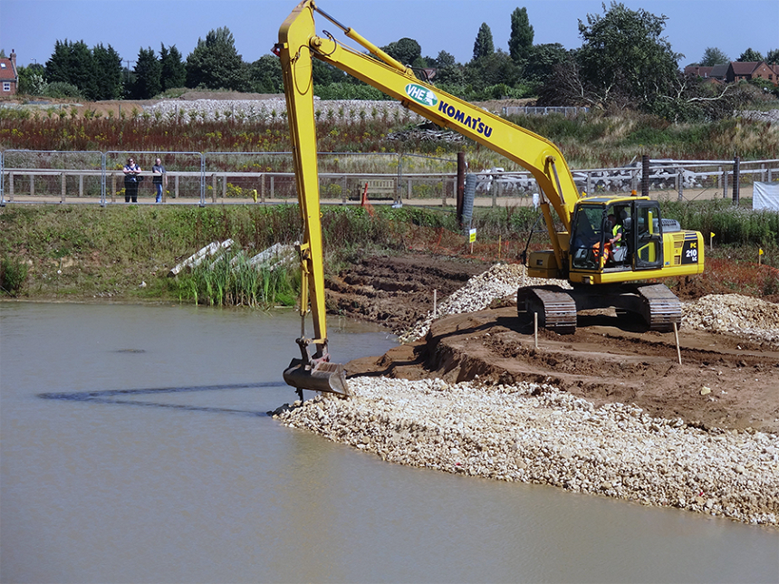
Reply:
[[[327,31],[317,34],[314,14],[340,29],[362,50],[336,40]],[[284,380],[297,388],[299,395],[303,389],[349,395],[343,368],[330,361],[327,351],[313,59],[365,81],[423,118],[475,140],[533,175],[541,191],[540,207],[552,249],[529,254],[527,274],[570,285],[520,288],[520,315],[535,314],[540,326],[561,334],[572,333],[577,313],[591,309],[639,314],[649,330],[675,330],[680,324],[681,303],[656,280],[702,273],[703,236],[662,218],[657,201],[649,196],[580,193],[563,153],[551,141],[419,80],[408,65],[341,24],[313,0],[303,0],[284,21],[274,53],[284,74],[304,225],[303,242],[298,244],[303,273],[303,325],[297,340],[301,359],[293,359],[284,371]],[[313,339],[305,337],[309,310]]]

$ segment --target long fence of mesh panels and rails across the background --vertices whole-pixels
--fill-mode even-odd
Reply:
[[[150,168],[167,169],[163,204],[273,204],[297,201],[289,152],[0,152],[0,205],[124,203],[122,168],[130,156],[143,168],[139,204],[154,204]],[[327,152],[318,155],[323,203],[349,204],[363,196],[377,204],[454,206],[457,160],[419,155]],[[640,163],[621,168],[572,170],[589,195],[640,191]],[[539,189],[527,171],[476,172],[476,205],[522,205]],[[662,196],[727,197],[734,187],[779,179],[779,160],[652,160],[649,189]]]

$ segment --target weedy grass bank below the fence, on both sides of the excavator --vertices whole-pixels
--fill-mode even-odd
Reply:
[[[707,272],[668,282],[684,294],[744,292],[779,298],[779,215],[726,201],[664,204],[664,215],[708,236]],[[322,208],[325,270],[335,273],[365,254],[419,251],[515,261],[536,225],[531,249],[547,238],[531,207],[477,209],[470,246],[452,210],[377,206]],[[246,263],[273,244],[302,238],[298,207],[279,206],[6,206],[0,208],[0,294],[22,299],[173,301],[290,305],[299,290],[296,264],[256,270]],[[234,240],[230,263],[168,273],[197,250]],[[759,250],[763,255],[758,255]],[[757,264],[758,258],[761,265]]]

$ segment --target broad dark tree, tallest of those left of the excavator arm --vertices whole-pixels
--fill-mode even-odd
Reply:
[[[187,86],[214,90],[247,89],[247,70],[236,51],[233,34],[226,26],[210,31],[205,41],[197,39],[197,46],[187,57]]]

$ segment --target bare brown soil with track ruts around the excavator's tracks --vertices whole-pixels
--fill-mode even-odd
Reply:
[[[332,311],[403,330],[489,266],[424,254],[370,258],[328,283]],[[547,383],[596,404],[634,404],[690,425],[779,432],[779,348],[732,335],[647,331],[609,311],[580,315],[572,335],[541,330],[512,302],[434,322],[428,337],[345,364],[349,376],[476,377]],[[678,363],[679,355],[681,364]]]

